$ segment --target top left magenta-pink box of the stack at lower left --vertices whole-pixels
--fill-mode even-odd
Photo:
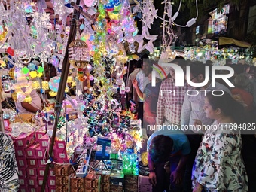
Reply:
[[[35,132],[21,133],[14,140],[17,148],[27,148],[35,142]]]

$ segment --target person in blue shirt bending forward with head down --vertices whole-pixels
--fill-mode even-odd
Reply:
[[[181,130],[159,130],[148,139],[149,181],[153,192],[182,191],[182,178],[190,153],[187,136]],[[170,174],[166,167],[170,168]]]

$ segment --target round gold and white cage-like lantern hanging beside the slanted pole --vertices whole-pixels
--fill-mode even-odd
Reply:
[[[76,39],[69,44],[69,62],[72,66],[82,69],[90,61],[90,50],[84,41],[79,38],[78,20],[76,21]]]

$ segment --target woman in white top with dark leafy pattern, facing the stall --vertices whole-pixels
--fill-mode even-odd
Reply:
[[[242,138],[239,129],[233,129],[242,123],[243,106],[227,92],[222,96],[207,93],[203,109],[206,117],[215,122],[212,129],[206,130],[197,151],[192,175],[193,191],[248,191],[241,156]]]

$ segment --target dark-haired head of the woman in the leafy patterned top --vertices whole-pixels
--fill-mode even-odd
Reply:
[[[223,95],[221,95],[224,93]],[[245,117],[244,107],[233,99],[229,93],[221,90],[215,90],[215,95],[212,92],[206,93],[206,102],[211,105],[213,113],[210,118],[216,119],[215,117],[231,117],[236,123],[243,123]],[[206,106],[204,107],[206,111]],[[207,111],[206,111],[207,116]],[[209,116],[209,114],[208,114]],[[227,122],[228,123],[228,122]],[[230,122],[232,123],[232,122]]]

